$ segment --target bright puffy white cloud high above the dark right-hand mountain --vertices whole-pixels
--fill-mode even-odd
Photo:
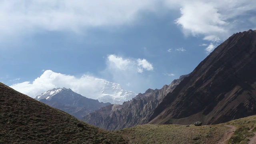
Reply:
[[[192,35],[225,32],[228,24],[212,3],[193,1],[180,8],[182,16],[176,19],[186,33]]]

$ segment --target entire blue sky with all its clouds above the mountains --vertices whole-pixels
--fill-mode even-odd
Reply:
[[[144,93],[249,29],[254,0],[0,0],[0,82],[33,98],[97,78]]]

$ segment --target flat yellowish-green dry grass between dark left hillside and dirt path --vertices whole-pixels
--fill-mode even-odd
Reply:
[[[216,144],[228,128],[223,125],[148,124],[118,130],[135,144]]]

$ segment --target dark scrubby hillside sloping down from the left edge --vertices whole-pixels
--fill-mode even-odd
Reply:
[[[88,125],[0,83],[0,144],[123,144],[115,132]]]

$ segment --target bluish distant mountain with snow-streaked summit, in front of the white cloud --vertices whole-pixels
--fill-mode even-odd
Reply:
[[[67,88],[54,88],[48,90],[39,96],[36,96],[35,99],[54,108],[63,110],[78,119],[82,119],[90,112],[94,112],[95,110],[110,104],[86,98]]]

